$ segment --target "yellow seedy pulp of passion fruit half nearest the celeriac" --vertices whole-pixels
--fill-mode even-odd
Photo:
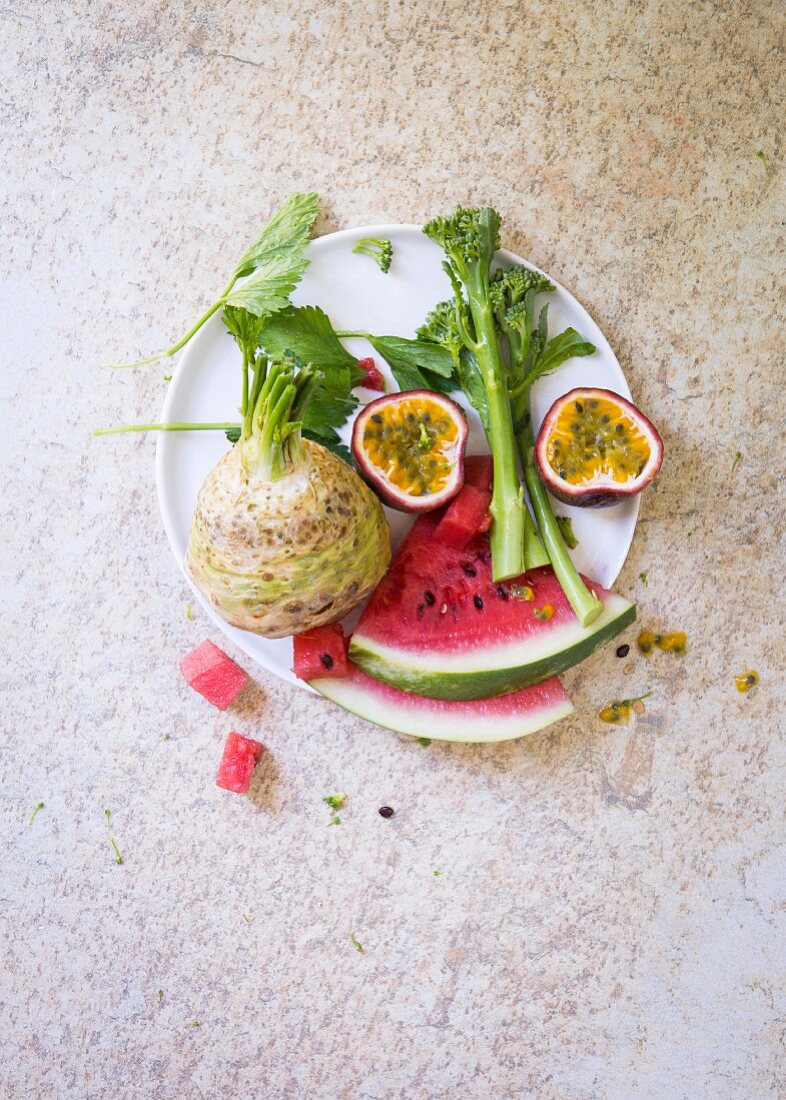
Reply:
[[[363,431],[369,461],[407,496],[429,496],[449,482],[458,427],[446,411],[422,397],[390,402],[373,413]]]

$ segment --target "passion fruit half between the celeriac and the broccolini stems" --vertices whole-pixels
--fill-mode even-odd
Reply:
[[[372,488],[399,512],[431,512],[464,484],[468,426],[455,402],[408,389],[370,402],[357,415],[352,453]]]

